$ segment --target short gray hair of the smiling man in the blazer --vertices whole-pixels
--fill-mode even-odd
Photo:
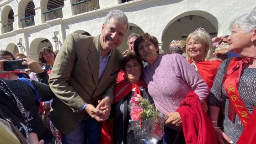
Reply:
[[[119,11],[119,10],[109,11],[109,13],[107,14],[107,17],[106,17],[106,20],[105,20],[104,24],[107,25],[109,20],[112,17],[116,18],[118,22],[123,23],[124,25],[126,25],[126,32],[128,31],[128,27],[129,27],[128,18],[123,13],[123,11]]]

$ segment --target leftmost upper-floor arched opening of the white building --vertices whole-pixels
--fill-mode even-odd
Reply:
[[[11,6],[7,5],[2,11],[2,33],[13,31],[14,13]]]

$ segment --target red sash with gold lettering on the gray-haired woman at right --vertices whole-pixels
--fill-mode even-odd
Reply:
[[[234,122],[236,112],[244,127],[250,120],[251,114],[239,96],[238,85],[241,77],[241,71],[245,67],[245,64],[249,64],[250,61],[251,59],[248,58],[232,59],[227,69],[227,73],[224,75],[224,79],[222,81],[222,84],[225,84],[225,91],[229,96],[229,119]],[[233,107],[230,105],[230,103]]]

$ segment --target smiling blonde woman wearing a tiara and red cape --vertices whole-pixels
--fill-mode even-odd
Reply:
[[[203,28],[198,28],[187,37],[186,59],[211,89],[221,60],[214,58],[212,37]]]

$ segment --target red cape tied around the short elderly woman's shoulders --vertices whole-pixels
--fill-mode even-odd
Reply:
[[[127,96],[135,87],[134,94],[139,93],[139,86],[147,87],[146,82],[141,79],[139,83],[133,85],[132,83],[127,82],[126,80],[122,80],[115,85],[114,88],[114,100],[113,104],[117,103],[125,96]],[[113,124],[114,118],[107,119],[104,122],[101,122],[101,144],[113,144]]]

